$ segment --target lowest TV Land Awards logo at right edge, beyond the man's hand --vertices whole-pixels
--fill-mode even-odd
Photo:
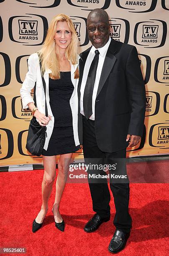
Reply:
[[[151,126],[149,144],[151,147],[169,148],[169,123],[157,123]]]

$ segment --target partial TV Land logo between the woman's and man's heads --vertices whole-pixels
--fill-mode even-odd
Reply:
[[[80,46],[86,46],[89,43],[88,34],[87,34],[87,19],[78,16],[70,16],[71,20],[74,24],[78,41],[80,42]],[[85,31],[85,33],[81,33],[81,31]]]

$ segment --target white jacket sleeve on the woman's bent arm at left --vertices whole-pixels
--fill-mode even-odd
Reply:
[[[20,89],[20,95],[23,102],[23,108],[28,108],[28,103],[34,100],[30,95],[31,90],[35,86],[37,80],[37,67],[39,64],[38,54],[31,54],[28,59],[28,72],[26,74],[25,80]]]

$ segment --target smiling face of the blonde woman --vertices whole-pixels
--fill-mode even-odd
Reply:
[[[66,21],[58,21],[54,37],[55,45],[61,49],[66,49],[71,43],[71,37],[72,33],[68,27],[68,23]]]

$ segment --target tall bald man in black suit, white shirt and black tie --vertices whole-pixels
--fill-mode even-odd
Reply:
[[[145,86],[136,47],[110,38],[105,10],[94,9],[88,14],[87,31],[92,46],[81,53],[80,59],[78,96],[82,118],[78,120],[79,136],[82,143],[83,121],[85,162],[94,159],[96,164],[98,159],[98,163],[109,164],[113,159],[126,159],[126,147],[136,146],[140,141],[144,127]],[[120,166],[121,173],[126,174],[126,165]],[[88,175],[90,173],[94,171],[88,170]],[[84,227],[90,233],[110,220],[110,192],[104,178],[92,182],[88,176],[88,182],[96,212]],[[116,207],[116,230],[108,250],[117,253],[126,246],[131,230],[129,181],[110,182],[110,188]]]

